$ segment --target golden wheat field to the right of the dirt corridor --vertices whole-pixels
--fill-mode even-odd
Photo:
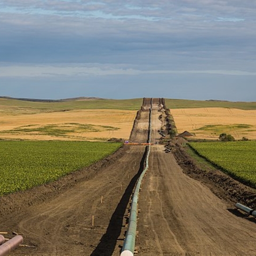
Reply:
[[[235,139],[256,139],[256,110],[235,108],[172,109],[178,133],[189,131],[198,139],[218,139],[221,133]]]

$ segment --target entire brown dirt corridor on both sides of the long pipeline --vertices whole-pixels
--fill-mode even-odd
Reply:
[[[158,141],[164,112],[158,99],[153,103],[152,136]],[[132,129],[134,142],[147,141],[149,110],[142,110]],[[239,189],[248,200],[255,191],[225,174],[205,175],[180,146],[174,151],[151,146],[139,198],[138,255],[255,255],[255,220],[234,209]],[[0,231],[22,234],[27,245],[11,255],[119,255],[144,157],[145,146],[125,145],[59,181],[0,198]],[[227,179],[230,193],[215,186]]]

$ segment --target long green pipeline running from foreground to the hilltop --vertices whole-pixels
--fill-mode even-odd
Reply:
[[[134,253],[136,229],[137,229],[138,198],[139,198],[139,192],[140,192],[142,179],[148,170],[148,159],[149,159],[149,154],[150,154],[151,127],[152,127],[152,125],[151,125],[152,104],[153,104],[153,99],[151,99],[151,101],[150,101],[150,109],[149,109],[149,129],[148,129],[149,132],[148,132],[148,139],[147,139],[147,143],[149,143],[149,145],[146,146],[146,150],[147,150],[146,166],[143,169],[143,171],[138,179],[138,182],[137,182],[137,185],[135,187],[134,194],[132,197],[129,224],[128,224],[126,236],[124,239],[124,245],[122,248],[121,256],[133,256],[133,253]]]

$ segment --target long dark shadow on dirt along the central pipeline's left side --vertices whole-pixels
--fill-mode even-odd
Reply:
[[[116,242],[121,234],[122,226],[123,226],[123,218],[126,211],[127,204],[129,204],[130,197],[137,182],[141,172],[144,169],[145,159],[147,155],[148,147],[146,147],[145,152],[142,156],[140,162],[139,171],[134,177],[131,179],[129,185],[127,186],[121,201],[118,203],[115,212],[113,213],[106,233],[101,237],[100,243],[94,249],[90,256],[111,256],[115,250]]]

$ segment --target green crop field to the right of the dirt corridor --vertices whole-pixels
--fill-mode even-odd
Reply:
[[[231,177],[256,188],[256,141],[191,142],[189,146]]]

